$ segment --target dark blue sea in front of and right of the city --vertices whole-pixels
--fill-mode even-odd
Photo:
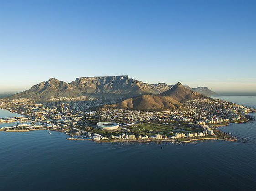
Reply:
[[[254,96],[214,98],[256,108]],[[0,190],[254,190],[256,121],[221,130],[239,141],[107,143],[0,131]]]

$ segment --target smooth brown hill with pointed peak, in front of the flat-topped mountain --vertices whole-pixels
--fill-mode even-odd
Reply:
[[[129,109],[141,111],[185,110],[183,103],[188,100],[209,98],[184,87],[180,82],[158,95],[140,95],[124,101],[104,105],[104,108]]]

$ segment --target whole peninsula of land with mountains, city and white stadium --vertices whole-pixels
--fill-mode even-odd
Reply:
[[[2,131],[47,129],[94,141],[234,141],[218,126],[245,122],[242,113],[255,111],[180,82],[147,84],[128,76],[77,78],[69,84],[51,78],[0,99],[0,108],[23,115],[0,122],[30,121]]]

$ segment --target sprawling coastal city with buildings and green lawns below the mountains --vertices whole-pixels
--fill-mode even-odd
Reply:
[[[80,102],[84,102],[81,109]],[[191,141],[199,138],[235,140],[218,130],[218,126],[230,122],[245,122],[242,113],[254,112],[246,106],[218,99],[189,100],[187,110],[180,111],[135,111],[125,109],[98,109],[92,106],[111,104],[115,100],[89,97],[69,97],[35,103],[29,99],[1,99],[0,107],[24,117],[0,119],[1,122],[31,121],[30,123],[2,127],[4,131],[31,131],[47,129],[69,134],[69,139],[94,141]],[[95,108],[95,107],[93,107]],[[116,130],[104,131],[97,122],[120,123]],[[162,129],[161,129],[162,128]]]

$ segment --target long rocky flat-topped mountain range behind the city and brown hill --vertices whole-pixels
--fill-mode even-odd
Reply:
[[[102,77],[81,77],[71,83],[50,78],[37,85],[33,85],[31,89],[11,95],[10,98],[31,98],[39,100],[47,100],[52,97],[68,97],[82,95],[144,95],[165,92],[174,85],[165,83],[148,84],[139,80],[133,80],[128,75],[119,76],[102,76]],[[213,91],[207,87],[190,88],[190,90],[198,91],[204,95],[214,95]]]

